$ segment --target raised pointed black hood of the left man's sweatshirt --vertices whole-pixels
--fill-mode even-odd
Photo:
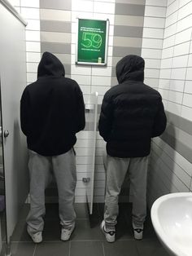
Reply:
[[[60,60],[50,52],[43,53],[37,69],[37,77],[64,77],[65,70]]]

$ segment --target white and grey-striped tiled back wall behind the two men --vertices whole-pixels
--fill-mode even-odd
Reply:
[[[115,66],[124,55],[141,55],[145,0],[11,0],[28,21],[26,30],[27,79],[37,78],[37,64],[41,53],[50,51],[65,66],[66,76],[75,79],[83,91],[85,104],[98,91],[98,116],[105,92],[116,85]],[[110,20],[107,67],[76,66],[76,17]],[[86,106],[86,105],[85,105]],[[86,178],[89,168],[89,139],[85,130],[77,135],[76,202],[85,202]],[[94,201],[104,200],[105,170],[103,167],[105,143],[97,132]],[[55,200],[55,188],[47,191],[47,201]]]

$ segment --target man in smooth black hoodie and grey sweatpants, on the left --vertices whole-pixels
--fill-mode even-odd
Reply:
[[[76,133],[85,128],[85,105],[78,84],[65,76],[63,64],[45,52],[37,81],[26,86],[20,100],[21,129],[29,149],[31,206],[27,231],[35,243],[42,241],[45,189],[53,172],[59,193],[61,240],[75,227],[74,199]]]

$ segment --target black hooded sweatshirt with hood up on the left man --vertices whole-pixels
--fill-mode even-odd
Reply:
[[[42,156],[68,152],[76,132],[85,128],[85,104],[78,84],[67,77],[60,60],[42,55],[37,81],[26,86],[20,100],[20,122],[28,148]]]

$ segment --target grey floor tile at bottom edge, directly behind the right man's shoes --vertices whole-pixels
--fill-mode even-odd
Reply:
[[[104,242],[105,256],[139,256],[135,241]]]

